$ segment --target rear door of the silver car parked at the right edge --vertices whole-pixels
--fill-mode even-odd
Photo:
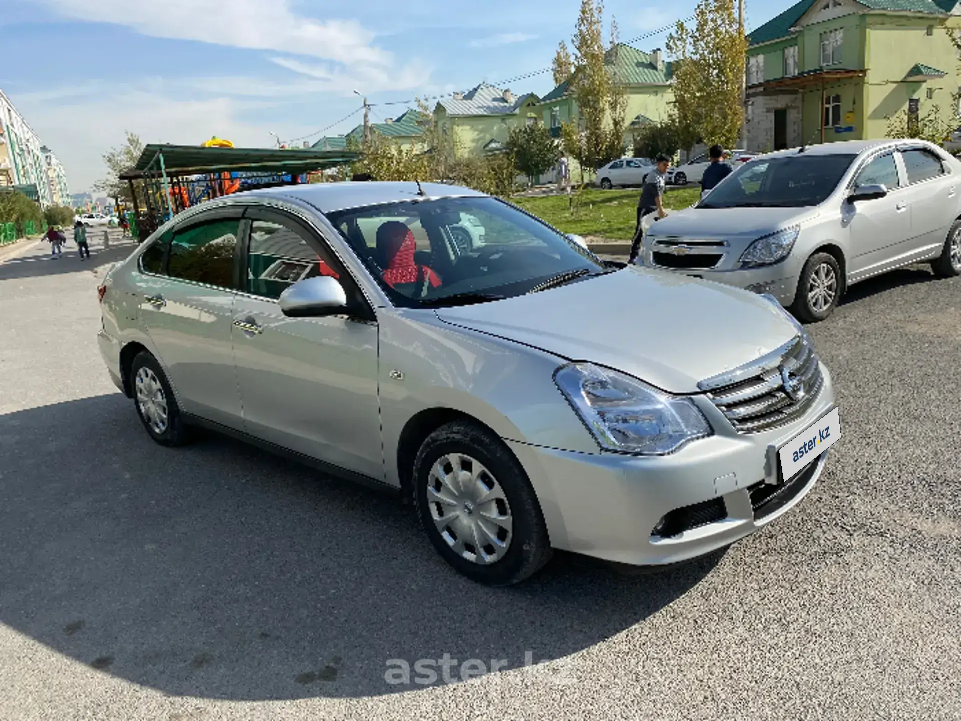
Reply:
[[[933,252],[944,244],[957,216],[957,177],[927,148],[902,148],[900,157],[907,175],[905,194],[911,215],[911,241],[905,250]]]

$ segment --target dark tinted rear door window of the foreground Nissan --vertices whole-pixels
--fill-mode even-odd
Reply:
[[[209,286],[234,286],[239,220],[214,220],[174,233],[167,275]]]

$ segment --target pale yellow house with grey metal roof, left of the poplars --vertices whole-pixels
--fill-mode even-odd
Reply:
[[[510,129],[540,117],[533,93],[515,95],[481,83],[468,92],[442,98],[433,110],[434,123],[449,137],[456,158],[496,152],[504,147]]]

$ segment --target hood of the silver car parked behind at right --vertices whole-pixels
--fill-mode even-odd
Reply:
[[[685,208],[655,222],[650,234],[684,239],[741,238],[751,242],[782,228],[800,225],[815,215],[813,208]]]

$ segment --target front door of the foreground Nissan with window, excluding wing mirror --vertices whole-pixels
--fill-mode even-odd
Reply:
[[[278,211],[247,212],[244,286],[234,307],[234,363],[247,433],[382,479],[378,328],[326,241]],[[357,315],[291,318],[278,298],[299,280],[332,275]]]

